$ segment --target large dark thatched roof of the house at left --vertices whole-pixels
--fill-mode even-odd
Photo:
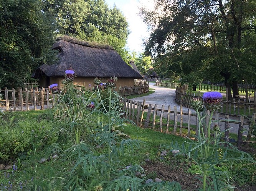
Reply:
[[[42,65],[32,78],[64,76],[65,70],[72,69],[78,77],[111,77],[142,79],[109,45],[79,41],[63,36],[56,39],[53,49],[60,50],[59,61],[54,65]]]

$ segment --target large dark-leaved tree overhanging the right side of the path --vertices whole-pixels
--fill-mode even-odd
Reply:
[[[155,0],[154,11],[142,9],[152,33],[146,53],[155,63],[164,58],[169,70],[223,80],[228,98],[239,95],[237,83],[255,81],[256,54],[253,0]],[[248,43],[249,42],[249,43]],[[159,65],[163,68],[163,65]],[[188,73],[185,72],[188,71]]]

